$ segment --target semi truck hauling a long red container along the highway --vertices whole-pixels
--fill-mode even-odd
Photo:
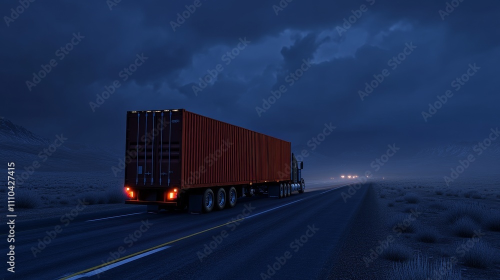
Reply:
[[[126,204],[208,213],[255,194],[303,193],[290,142],[185,109],[126,112]]]

